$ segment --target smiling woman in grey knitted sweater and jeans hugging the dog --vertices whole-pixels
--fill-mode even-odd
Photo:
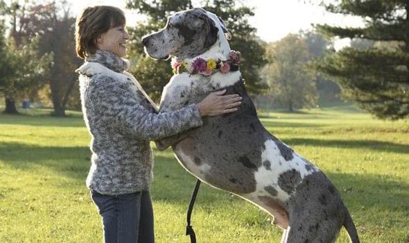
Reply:
[[[128,62],[125,16],[119,8],[86,8],[76,22],[76,51],[88,62],[124,72]],[[137,88],[139,86],[139,88]],[[237,110],[241,97],[209,94],[198,104],[157,114],[140,85],[110,76],[80,75],[82,112],[92,135],[87,187],[103,221],[105,242],[154,242],[149,187],[150,140],[202,125],[201,117]]]

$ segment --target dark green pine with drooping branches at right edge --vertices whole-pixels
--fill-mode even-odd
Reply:
[[[323,3],[329,12],[365,19],[358,28],[317,25],[330,37],[367,39],[373,47],[349,47],[323,58],[318,69],[336,78],[345,97],[376,117],[409,115],[409,1],[368,0]],[[393,42],[394,44],[388,44]]]

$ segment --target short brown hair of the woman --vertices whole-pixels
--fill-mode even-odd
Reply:
[[[77,56],[85,59],[89,53],[95,54],[96,37],[110,28],[125,25],[125,15],[113,6],[94,6],[85,8],[76,21]]]

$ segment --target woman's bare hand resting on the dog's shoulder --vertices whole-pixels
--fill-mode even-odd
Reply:
[[[220,90],[210,93],[198,103],[200,115],[202,117],[216,116],[238,110],[237,106],[240,106],[243,98],[239,97],[238,94],[223,95],[225,92],[226,90]]]

